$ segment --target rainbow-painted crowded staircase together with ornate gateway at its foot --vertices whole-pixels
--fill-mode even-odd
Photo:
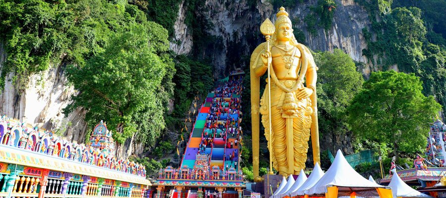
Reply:
[[[157,198],[241,198],[243,72],[231,72],[201,105],[179,168],[160,169]]]

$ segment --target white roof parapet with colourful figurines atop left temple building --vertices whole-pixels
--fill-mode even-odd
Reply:
[[[146,180],[143,165],[116,159],[111,132],[100,122],[92,133],[95,146],[69,142],[53,132],[2,116],[0,161],[139,184]],[[93,138],[92,138],[93,139]]]

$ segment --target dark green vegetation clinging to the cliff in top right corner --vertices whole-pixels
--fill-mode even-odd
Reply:
[[[413,2],[422,4],[421,1]],[[423,82],[423,94],[434,96],[446,110],[446,67],[445,48],[432,44],[428,35],[442,34],[434,32],[433,26],[443,27],[444,20],[438,8],[431,5],[417,7],[391,8],[391,0],[356,0],[369,12],[372,28],[363,29],[364,38],[367,41],[367,49],[363,54],[378,69],[387,70],[390,66],[397,65],[398,69],[407,73],[414,73]],[[401,1],[397,1],[401,2]],[[431,1],[425,4],[430,4]],[[436,4],[440,1],[434,0]],[[401,3],[396,3],[400,5]],[[434,3],[435,4],[435,3]],[[423,20],[423,15],[424,20]],[[439,22],[433,22],[433,18]],[[377,18],[379,20],[377,20]],[[428,27],[428,28],[426,28]],[[385,30],[385,31],[383,31]],[[372,36],[375,35],[376,39]],[[444,39],[444,38],[443,38]],[[441,39],[437,39],[441,40]],[[435,42],[441,44],[442,42]],[[378,59],[375,60],[374,56]]]

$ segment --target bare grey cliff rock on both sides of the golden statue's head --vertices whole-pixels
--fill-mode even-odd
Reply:
[[[342,49],[355,61],[366,63],[363,73],[367,76],[372,69],[371,65],[367,64],[367,58],[362,55],[362,49],[367,48],[362,29],[370,26],[368,14],[354,0],[335,0],[335,2],[337,5],[332,28],[329,31],[318,28],[316,35],[311,35],[307,31],[303,19],[311,13],[310,6],[314,6],[317,0],[296,3],[295,7],[287,8],[286,11],[294,23],[293,28],[304,33],[306,46],[321,51]],[[184,23],[181,24],[185,18],[184,10],[187,9],[184,6],[186,6],[184,3],[180,4],[178,19],[174,26],[176,41],[171,43],[171,49],[179,54],[187,54],[194,48],[194,46],[188,47],[194,42],[191,40],[192,28]],[[215,45],[208,45],[205,52],[198,56],[211,58],[215,66],[215,77],[222,76],[225,71],[233,67],[239,67],[241,61],[237,60],[249,56],[258,44],[265,41],[259,31],[260,24],[267,17],[274,21],[278,11],[268,0],[257,0],[255,6],[249,5],[248,0],[206,0],[205,6],[207,11],[200,15],[212,23],[213,28],[207,33],[216,39]]]

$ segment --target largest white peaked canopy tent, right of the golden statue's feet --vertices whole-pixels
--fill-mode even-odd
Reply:
[[[361,197],[378,196],[376,188],[385,188],[357,173],[345,160],[340,150],[337,150],[335,160],[324,176],[305,191],[305,194],[325,194],[328,192],[327,188],[332,186],[337,187],[338,196],[348,196],[351,192],[356,192]]]

